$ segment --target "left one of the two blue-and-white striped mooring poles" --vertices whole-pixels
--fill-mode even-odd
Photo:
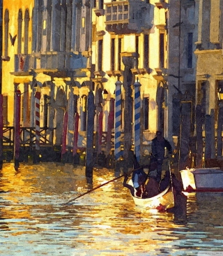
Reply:
[[[121,85],[116,82],[116,108],[115,108],[115,134],[114,134],[114,156],[116,161],[121,157]]]

